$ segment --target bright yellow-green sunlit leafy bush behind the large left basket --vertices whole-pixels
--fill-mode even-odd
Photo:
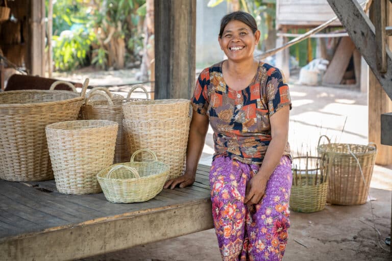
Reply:
[[[53,60],[55,68],[62,71],[74,70],[87,64],[90,45],[95,41],[93,31],[82,28],[77,31],[64,31],[60,36],[53,36]]]

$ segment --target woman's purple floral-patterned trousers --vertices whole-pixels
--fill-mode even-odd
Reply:
[[[228,156],[218,156],[212,162],[212,215],[224,261],[273,261],[283,257],[290,226],[291,160],[282,156],[259,204],[244,205],[246,185],[258,169],[259,165]]]

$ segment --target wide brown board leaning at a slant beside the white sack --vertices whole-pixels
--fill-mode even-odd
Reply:
[[[329,63],[327,71],[323,76],[323,84],[340,84],[354,49],[355,45],[350,37],[342,37],[340,39],[332,61]]]

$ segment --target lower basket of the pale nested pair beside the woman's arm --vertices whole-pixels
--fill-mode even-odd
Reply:
[[[177,120],[124,120],[128,146],[132,151],[149,148],[158,160],[170,166],[168,178],[180,176],[185,170],[186,147],[191,117]],[[138,157],[144,161],[143,155]]]

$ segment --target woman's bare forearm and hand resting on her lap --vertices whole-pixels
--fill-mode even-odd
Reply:
[[[271,142],[269,142],[263,163],[257,174],[248,182],[245,204],[257,204],[265,193],[269,177],[282,158],[288,139],[289,106],[284,106],[269,118]]]

